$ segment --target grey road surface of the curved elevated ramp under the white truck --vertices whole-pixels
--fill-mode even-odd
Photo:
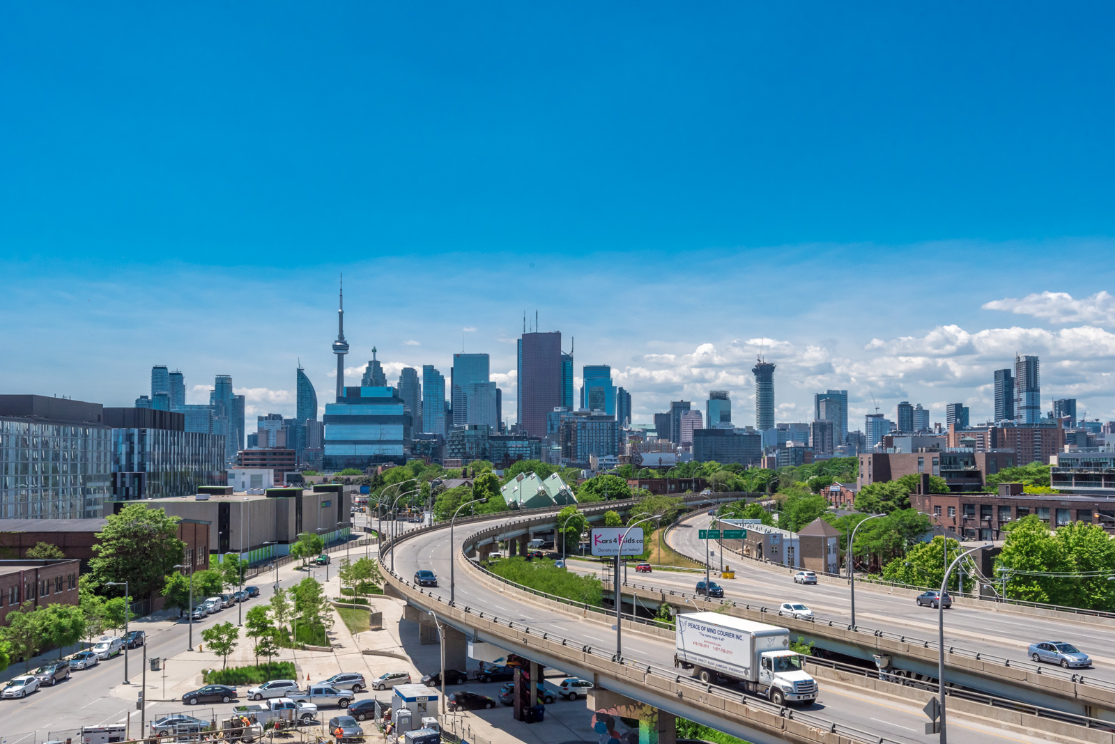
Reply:
[[[497,523],[500,520],[486,521],[484,527]],[[476,529],[477,525],[475,523],[459,526],[456,529],[456,551],[458,554],[462,541]],[[428,589],[428,591],[448,599],[450,552],[447,529],[430,530],[408,538],[399,542],[396,550],[397,572],[409,577],[419,569],[433,570],[440,579],[440,586],[436,589]],[[691,589],[691,587],[689,588]],[[482,581],[475,569],[460,565],[459,561],[456,570],[455,595],[458,606],[479,608],[485,614],[491,613],[502,619],[527,624],[532,629],[552,633],[565,638],[575,638],[594,648],[615,647],[615,632],[608,625],[574,618],[521,600],[513,594],[500,591]],[[673,650],[671,642],[631,632],[623,636],[623,655],[640,662],[672,667]],[[894,701],[883,699],[878,695],[864,694],[855,688],[822,684],[817,703],[807,709],[835,723],[864,732],[878,732],[894,741],[910,743],[928,741],[921,733],[925,717],[917,706],[906,706]],[[961,743],[1040,741],[1022,734],[1004,732],[968,722],[956,722],[952,726],[952,740]]]

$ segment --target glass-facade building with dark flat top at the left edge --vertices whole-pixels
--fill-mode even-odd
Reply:
[[[0,518],[88,519],[112,493],[99,403],[0,395]]]

